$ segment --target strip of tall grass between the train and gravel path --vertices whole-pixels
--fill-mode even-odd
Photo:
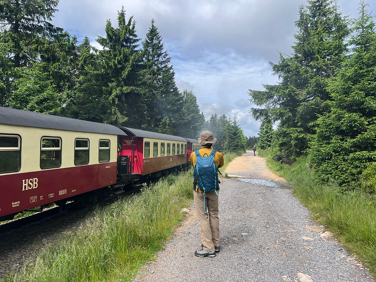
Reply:
[[[97,208],[74,233],[47,247],[4,281],[129,281],[163,247],[193,198],[191,173],[168,176],[141,193]],[[191,195],[191,196],[190,196]]]

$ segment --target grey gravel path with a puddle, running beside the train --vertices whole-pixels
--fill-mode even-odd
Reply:
[[[320,237],[323,227],[310,220],[308,209],[264,159],[249,151],[226,172],[242,178],[221,179],[217,256],[194,255],[201,241],[192,206],[165,250],[135,281],[375,282],[335,239]]]

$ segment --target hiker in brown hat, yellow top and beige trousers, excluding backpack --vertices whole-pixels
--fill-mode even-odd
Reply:
[[[211,131],[203,131],[201,132],[199,138],[199,144],[202,145],[200,150],[197,150],[201,157],[204,156],[211,156],[213,151],[212,144],[217,141],[217,138],[213,137],[213,133]],[[196,151],[196,152],[197,152]],[[196,165],[196,152],[191,153],[191,164],[193,166]],[[213,177],[214,182],[217,181],[217,168],[223,166],[223,155],[220,152],[214,150],[214,162],[215,162],[215,176]],[[215,256],[215,252],[220,251],[219,246],[219,217],[218,217],[218,191],[219,186],[218,183],[211,183],[212,185],[216,185],[217,189],[211,192],[205,192],[200,189],[202,184],[201,179],[197,179],[197,174],[194,174],[194,204],[196,206],[197,217],[199,218],[199,226],[200,226],[200,238],[202,242],[202,249],[199,251],[194,252],[196,256],[204,257],[204,256]],[[199,176],[200,177],[200,176]],[[205,177],[205,175],[203,176]],[[211,177],[212,178],[212,177]],[[206,179],[208,180],[208,179]],[[213,182],[212,181],[212,182]],[[206,212],[207,208],[207,212]]]

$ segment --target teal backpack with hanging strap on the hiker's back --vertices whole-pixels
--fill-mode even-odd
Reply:
[[[215,165],[214,155],[216,152],[217,151],[213,149],[209,156],[206,153],[206,156],[201,156],[199,150],[196,150],[194,152],[196,154],[196,165],[194,166],[193,177],[197,177],[197,188],[200,188],[202,191],[204,191],[204,215],[205,192],[215,191],[215,193],[218,195],[218,172],[222,175],[222,173],[218,170],[217,166]],[[196,190],[196,192],[198,191],[199,189]]]

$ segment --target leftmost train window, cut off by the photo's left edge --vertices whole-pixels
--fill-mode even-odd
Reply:
[[[21,138],[0,135],[0,173],[15,172],[21,168]]]

